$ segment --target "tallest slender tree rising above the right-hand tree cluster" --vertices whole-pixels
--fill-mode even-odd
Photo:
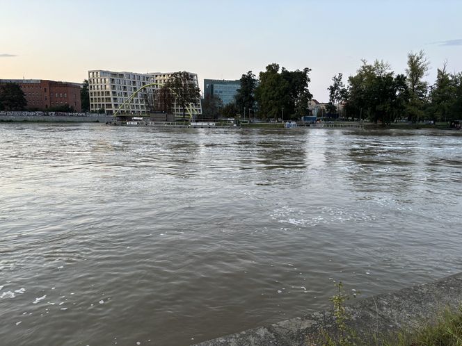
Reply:
[[[427,82],[422,78],[427,75],[429,61],[424,51],[418,53],[408,53],[408,67],[406,68],[407,83],[410,93],[409,104],[407,106],[408,120],[417,122],[422,119],[424,103],[427,96]]]

